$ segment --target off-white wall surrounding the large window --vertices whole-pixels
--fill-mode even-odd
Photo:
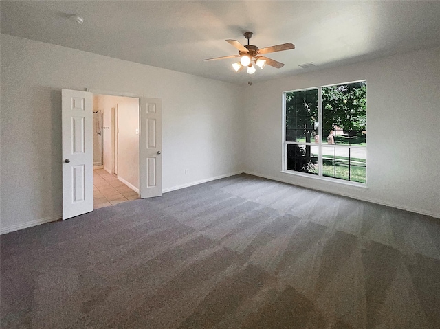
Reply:
[[[282,173],[283,91],[363,79],[368,188]],[[440,48],[254,83],[246,99],[246,172],[440,218]]]

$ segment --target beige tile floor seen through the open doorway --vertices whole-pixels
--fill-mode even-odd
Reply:
[[[104,169],[94,170],[94,209],[136,200],[137,192]]]

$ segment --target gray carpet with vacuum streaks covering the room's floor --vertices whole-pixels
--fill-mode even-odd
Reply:
[[[440,328],[440,220],[237,175],[1,236],[1,328]]]

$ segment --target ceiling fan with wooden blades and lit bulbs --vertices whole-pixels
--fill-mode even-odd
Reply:
[[[245,32],[243,34],[245,38],[248,39],[248,45],[242,45],[241,43],[239,43],[239,41],[236,40],[226,40],[228,43],[236,47],[236,49],[239,49],[238,55],[208,58],[206,60],[218,60],[225,58],[240,57],[239,62],[232,64],[234,70],[236,72],[239,72],[244,67],[248,67],[248,73],[254,74],[256,71],[254,64],[258,67],[261,67],[261,69],[263,69],[263,67],[265,67],[266,64],[272,67],[276,67],[277,69],[280,69],[281,67],[284,66],[283,63],[277,62],[276,60],[261,55],[269,54],[273,52],[281,52],[283,50],[295,49],[295,45],[292,43],[283,43],[282,45],[276,45],[272,47],[265,47],[259,49],[259,47],[249,44],[249,40],[250,38],[252,38],[252,34],[253,34],[252,32]]]

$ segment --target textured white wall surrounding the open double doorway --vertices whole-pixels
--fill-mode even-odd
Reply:
[[[2,232],[61,217],[61,88],[162,98],[164,190],[242,171],[241,87],[5,34],[0,42]]]

